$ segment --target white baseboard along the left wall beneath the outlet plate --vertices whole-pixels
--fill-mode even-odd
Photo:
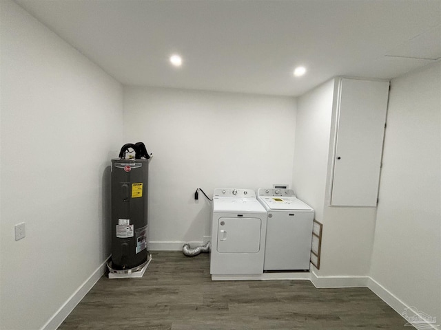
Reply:
[[[109,259],[110,256],[107,257]],[[96,282],[101,278],[107,269],[107,259],[96,268],[96,270],[89,276],[87,280],[79,286],[78,289],[65,301],[63,305],[58,309],[57,312],[48,320],[48,322],[41,327],[41,330],[52,330],[57,329],[61,323],[69,316],[69,314],[74,310],[76,305],[84,298],[84,296],[92,289]]]

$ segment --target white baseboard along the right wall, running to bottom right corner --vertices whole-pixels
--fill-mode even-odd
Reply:
[[[400,298],[398,298],[397,296],[392,294],[388,289],[383,287],[380,283],[378,283],[377,281],[375,281],[371,277],[368,278],[367,287],[369,287],[371,292],[373,292],[378,297],[380,297],[381,300],[384,301],[384,303],[387,303],[387,305],[392,307],[393,310],[395,310],[398,314],[400,314],[400,316],[403,317],[404,323],[408,321],[402,315],[404,313],[404,311],[409,311],[409,314],[410,314],[409,316],[414,316],[419,313],[419,311],[417,311],[415,309],[415,307],[409,307],[402,300],[400,300]],[[413,327],[416,327],[416,329],[421,329],[421,330],[427,330],[427,329],[440,330],[439,322],[440,322],[440,320],[438,320],[438,324],[424,322],[420,325],[418,325],[416,323],[413,323],[412,325],[413,325]]]

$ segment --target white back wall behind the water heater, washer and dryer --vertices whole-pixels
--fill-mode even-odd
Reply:
[[[125,142],[142,141],[150,162],[150,250],[182,248],[209,235],[214,188],[290,184],[294,98],[125,89]],[[177,243],[173,243],[177,242]]]

